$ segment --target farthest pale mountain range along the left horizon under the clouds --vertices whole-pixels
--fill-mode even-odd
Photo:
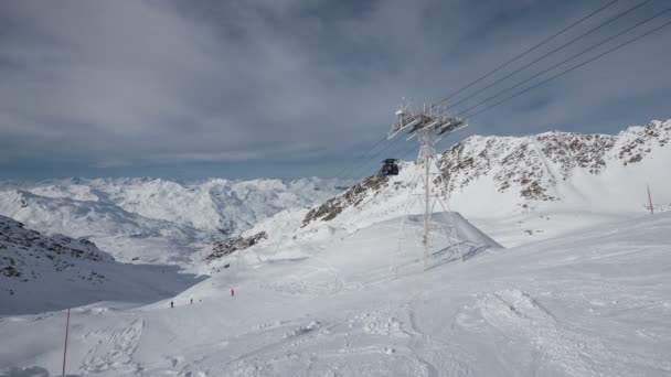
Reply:
[[[40,196],[114,204],[147,218],[226,234],[244,230],[284,208],[309,206],[338,192],[337,182],[211,179],[182,183],[163,179],[61,180],[25,185]]]

